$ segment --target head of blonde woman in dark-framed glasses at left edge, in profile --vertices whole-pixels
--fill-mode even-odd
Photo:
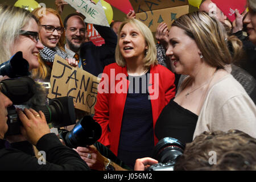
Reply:
[[[1,5],[0,20],[1,63],[22,51],[24,59],[29,63],[29,70],[38,68],[38,53],[43,45],[38,39],[36,17],[18,7]]]

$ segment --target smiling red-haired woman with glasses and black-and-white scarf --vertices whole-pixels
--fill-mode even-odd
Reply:
[[[39,35],[44,46],[40,51],[39,68],[32,71],[32,76],[33,78],[49,79],[55,55],[57,54],[63,59],[67,57],[67,53],[64,51],[63,23],[59,13],[53,9],[38,8],[32,11],[32,14],[39,19]]]

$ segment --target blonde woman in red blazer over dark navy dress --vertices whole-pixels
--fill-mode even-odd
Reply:
[[[101,75],[94,119],[102,127],[98,141],[133,168],[158,142],[155,122],[175,96],[175,76],[158,65],[152,32],[137,19],[121,24],[115,59]]]

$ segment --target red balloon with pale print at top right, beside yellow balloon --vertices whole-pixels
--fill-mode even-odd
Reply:
[[[227,18],[233,22],[236,19],[235,10],[239,10],[239,13],[243,13],[246,9],[246,0],[212,0],[217,7],[227,16]]]

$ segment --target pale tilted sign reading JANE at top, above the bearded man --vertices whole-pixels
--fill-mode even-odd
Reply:
[[[86,23],[93,23],[109,27],[109,23],[106,18],[105,11],[101,5],[101,1],[98,1],[96,5],[90,2],[90,0],[65,1],[86,17],[84,20]]]

